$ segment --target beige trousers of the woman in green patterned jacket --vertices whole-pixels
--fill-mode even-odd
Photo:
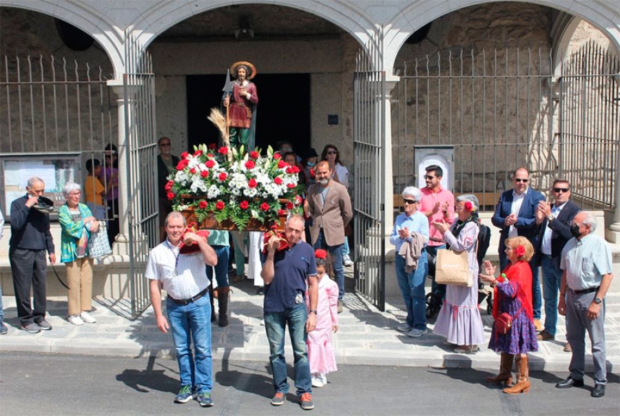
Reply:
[[[92,309],[92,258],[78,258],[65,263],[69,287],[69,316]]]

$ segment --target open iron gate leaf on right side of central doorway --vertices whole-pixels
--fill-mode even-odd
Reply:
[[[385,72],[378,30],[353,74],[355,289],[385,310]]]

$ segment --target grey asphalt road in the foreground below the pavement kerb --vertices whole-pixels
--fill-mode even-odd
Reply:
[[[273,407],[268,362],[214,362],[215,406],[174,404],[174,360],[3,353],[0,415],[293,415],[304,413],[289,393]],[[289,371],[289,375],[292,370]],[[506,395],[484,382],[490,371],[340,366],[316,388],[315,415],[613,415],[620,414],[620,379],[610,374],[606,396],[586,387],[559,390],[566,373],[533,372],[526,395]],[[291,386],[294,393],[294,387]]]

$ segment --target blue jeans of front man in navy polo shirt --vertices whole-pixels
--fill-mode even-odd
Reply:
[[[306,304],[302,302],[280,313],[265,313],[265,331],[269,340],[269,362],[273,373],[273,388],[276,393],[289,393],[287,382],[287,361],[285,358],[285,328],[289,326],[293,346],[293,368],[297,395],[311,393],[310,364],[306,349]]]

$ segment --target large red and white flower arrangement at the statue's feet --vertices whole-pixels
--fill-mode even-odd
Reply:
[[[251,220],[277,227],[280,217],[302,212],[298,173],[271,147],[261,156],[258,149],[199,145],[193,154],[180,155],[176,173],[168,177],[167,198],[175,211],[194,211],[198,222],[212,216],[239,230]]]

